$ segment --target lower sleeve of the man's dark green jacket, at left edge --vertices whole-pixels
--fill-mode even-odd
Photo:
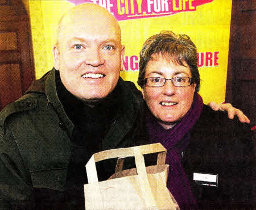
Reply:
[[[0,209],[14,209],[30,199],[32,184],[13,133],[8,125],[5,129],[0,136]]]

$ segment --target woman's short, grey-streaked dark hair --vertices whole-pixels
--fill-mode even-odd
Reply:
[[[144,76],[148,61],[152,60],[153,54],[162,54],[166,60],[185,66],[183,61],[187,62],[192,78],[196,83],[196,92],[200,88],[200,75],[197,68],[197,49],[196,45],[184,34],[175,34],[172,31],[162,31],[149,37],[142,46],[139,60],[138,85],[144,86]]]

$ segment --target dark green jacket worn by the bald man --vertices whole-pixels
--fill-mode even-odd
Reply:
[[[119,78],[122,104],[102,148],[139,144],[142,97]],[[137,94],[138,93],[138,94]],[[65,190],[74,125],[57,97],[55,70],[0,114],[0,209],[32,200],[35,188]]]

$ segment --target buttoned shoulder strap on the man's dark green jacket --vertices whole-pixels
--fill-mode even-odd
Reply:
[[[0,112],[0,136],[5,134],[5,122],[7,118],[18,112],[33,110],[36,108],[37,103],[37,94],[26,94],[3,108],[3,110]]]

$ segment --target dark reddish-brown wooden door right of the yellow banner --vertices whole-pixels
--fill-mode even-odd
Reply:
[[[256,1],[233,0],[226,102],[240,108],[254,127],[256,89]]]

